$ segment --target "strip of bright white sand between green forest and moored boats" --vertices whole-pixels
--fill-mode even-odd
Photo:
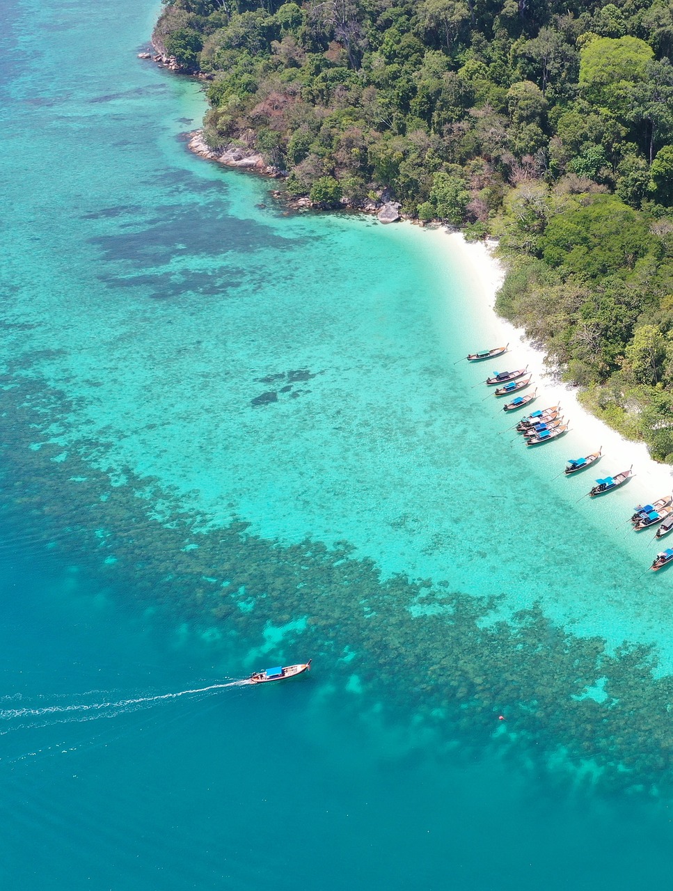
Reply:
[[[454,261],[462,267],[465,279],[472,286],[472,300],[483,307],[485,329],[494,338],[494,345],[509,342],[509,353],[514,363],[528,364],[533,380],[538,384],[538,408],[561,403],[563,413],[570,419],[570,430],[565,439],[568,456],[581,457],[603,447],[603,459],[596,467],[595,476],[614,475],[633,465],[634,479],[629,484],[631,497],[642,503],[673,491],[673,467],[655,462],[647,446],[625,439],[593,414],[578,400],[578,390],[559,379],[558,372],[545,363],[545,353],[530,343],[525,332],[496,313],[497,290],[505,280],[505,268],[494,255],[495,244],[484,241],[465,241],[462,233],[442,231]],[[482,348],[477,344],[475,348]],[[599,470],[600,468],[600,470]],[[588,474],[587,474],[588,475]]]

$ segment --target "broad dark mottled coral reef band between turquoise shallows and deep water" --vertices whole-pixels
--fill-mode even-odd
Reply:
[[[446,745],[499,747],[536,770],[562,760],[597,789],[673,791],[673,677],[657,675],[652,649],[610,653],[535,607],[497,620],[497,598],[383,580],[347,542],[283,546],[242,521],[213,527],[156,479],[94,470],[87,455],[101,443],[68,454],[50,444],[68,402],[16,372],[0,380],[0,515],[103,579],[121,606],[188,626],[214,648],[233,636],[260,646],[269,628],[288,626],[275,655],[313,656],[360,712],[391,724],[413,715]]]

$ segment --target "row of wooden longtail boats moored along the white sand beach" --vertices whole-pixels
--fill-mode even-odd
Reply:
[[[505,347],[494,347],[493,349],[483,350],[480,353],[470,353],[465,356],[468,362],[482,362],[486,359],[492,359],[496,356],[502,356],[506,353],[509,344]],[[490,377],[483,381],[487,387],[496,387],[495,396],[510,396],[518,390],[529,387],[532,375],[528,373],[528,365],[525,368],[516,369],[513,372],[494,372]],[[526,405],[529,405],[538,395],[537,388],[534,392],[526,396],[515,396],[510,402],[505,403],[503,410],[505,412],[514,412]],[[541,446],[544,443],[551,442],[552,439],[561,437],[569,429],[569,425],[561,414],[561,405],[550,405],[548,408],[541,409],[537,412],[531,412],[521,421],[518,421],[513,429],[520,433],[526,446]],[[597,452],[587,454],[582,458],[570,458],[567,462],[563,474],[570,477],[575,473],[591,467],[595,462],[599,461],[603,454],[603,449]],[[595,498],[600,495],[607,495],[614,489],[623,486],[633,477],[633,465],[628,470],[621,470],[620,473],[612,477],[596,479],[595,486],[592,486],[587,495]],[[664,496],[656,499],[652,504],[638,504],[633,513],[631,524],[636,532],[642,532],[644,529],[657,526],[654,537],[656,539],[663,538],[673,530],[673,495]],[[657,554],[650,567],[655,572],[673,562],[673,548],[667,548]]]

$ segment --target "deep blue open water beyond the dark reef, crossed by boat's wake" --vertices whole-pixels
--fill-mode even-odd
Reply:
[[[212,681],[209,655],[52,557],[4,551],[3,687],[77,704]],[[26,560],[29,560],[27,562]],[[317,682],[319,684],[319,682]],[[43,699],[36,701],[36,691]],[[105,692],[101,692],[105,691]],[[4,887],[649,887],[668,808],[569,796],[485,757],[342,723],[308,683],[2,738]],[[6,760],[9,756],[9,760]]]

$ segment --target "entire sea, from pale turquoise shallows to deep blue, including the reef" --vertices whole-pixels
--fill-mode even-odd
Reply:
[[[3,6],[2,887],[665,887],[636,490],[503,433],[436,235],[193,157],[157,14]]]

